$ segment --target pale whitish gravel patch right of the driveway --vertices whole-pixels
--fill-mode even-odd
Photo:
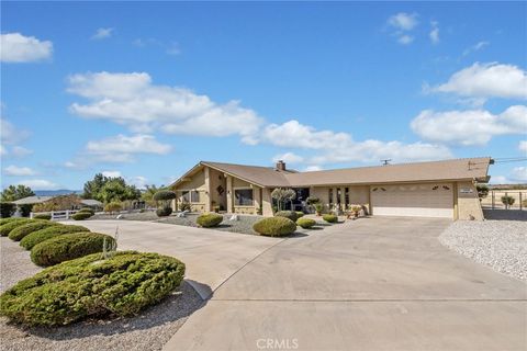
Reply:
[[[439,241],[500,273],[527,280],[527,222],[458,220]]]

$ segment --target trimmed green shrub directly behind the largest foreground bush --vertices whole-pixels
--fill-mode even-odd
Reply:
[[[54,265],[90,253],[102,252],[102,245],[115,245],[115,240],[99,233],[65,234],[37,244],[31,249],[31,260],[37,265]]]

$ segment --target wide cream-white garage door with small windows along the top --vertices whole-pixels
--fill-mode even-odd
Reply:
[[[450,183],[371,186],[375,216],[453,218],[453,191]]]

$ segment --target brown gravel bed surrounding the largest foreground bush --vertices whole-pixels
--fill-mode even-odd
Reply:
[[[41,269],[34,265],[29,252],[5,237],[1,244],[1,288],[7,290],[18,281]],[[180,291],[160,304],[131,318],[86,320],[54,328],[25,328],[0,317],[2,351],[103,351],[103,350],[161,350],[162,346],[183,325],[188,316],[203,306],[198,293],[187,283]]]

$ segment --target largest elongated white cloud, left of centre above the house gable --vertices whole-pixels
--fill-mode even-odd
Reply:
[[[160,131],[202,136],[239,135],[247,144],[262,123],[239,101],[217,104],[186,88],[155,86],[145,72],[70,76],[68,91],[89,100],[70,111],[88,118],[109,120],[132,131]]]

